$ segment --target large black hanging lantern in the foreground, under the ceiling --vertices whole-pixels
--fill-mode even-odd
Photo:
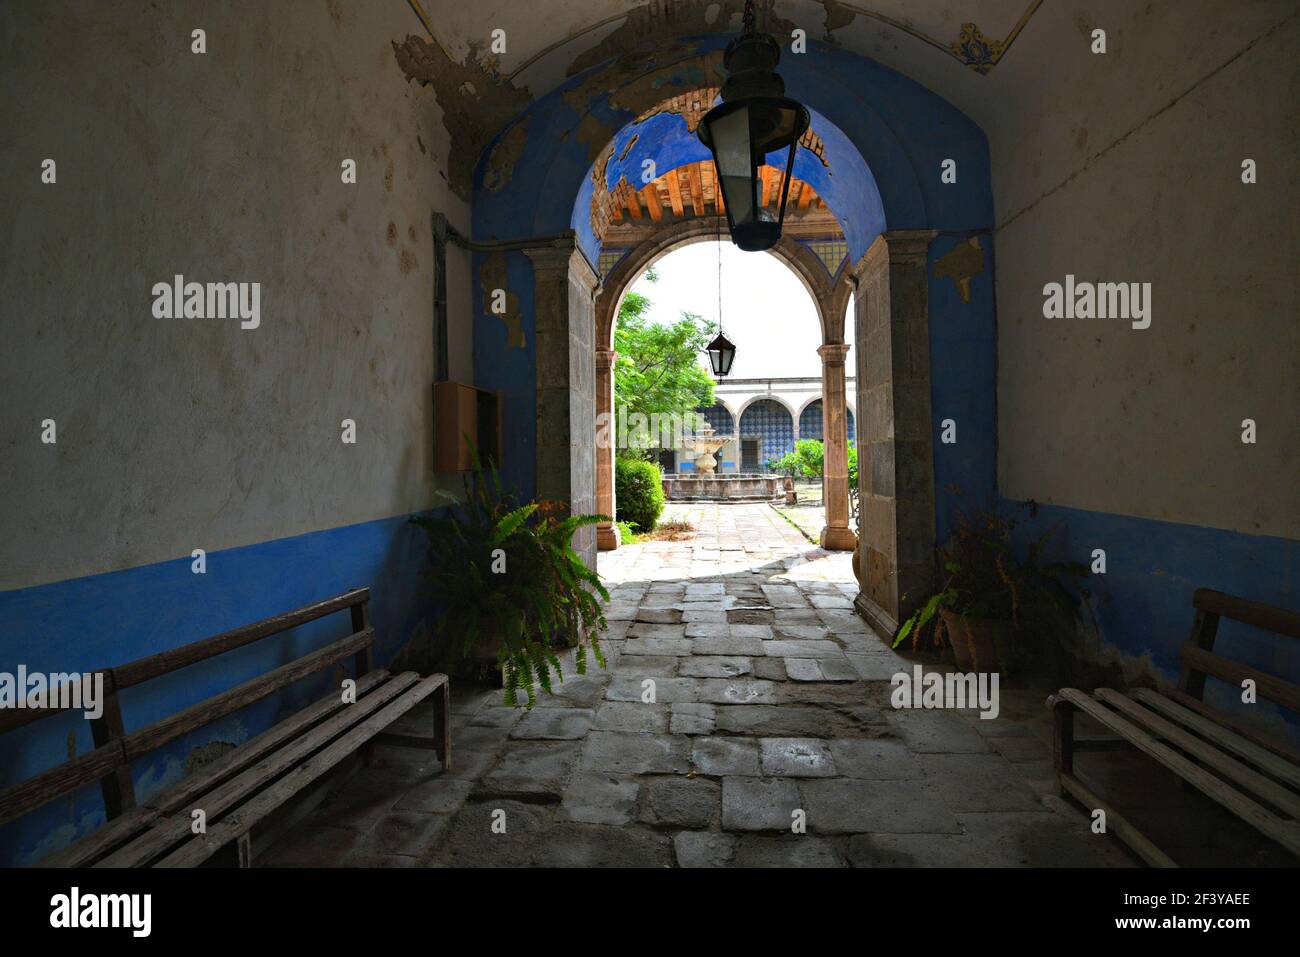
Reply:
[[[780,44],[754,26],[754,3],[745,4],[745,33],[723,55],[727,82],[720,105],[699,121],[697,135],[714,155],[716,187],[727,205],[732,242],[746,252],[770,250],[781,238],[800,137],[809,129],[803,104],[785,96],[776,73]],[[762,205],[759,170],[768,153],[788,151],[776,212]]]

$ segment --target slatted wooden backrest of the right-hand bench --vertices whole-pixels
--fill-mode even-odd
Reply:
[[[1208,588],[1196,589],[1192,596],[1192,607],[1196,609],[1192,635],[1179,655],[1182,672],[1178,676],[1178,690],[1182,694],[1204,701],[1206,676],[1217,677],[1238,688],[1242,687],[1242,681],[1251,679],[1261,698],[1268,698],[1300,714],[1300,685],[1214,653],[1214,638],[1221,618],[1300,638],[1300,612],[1252,602]]]

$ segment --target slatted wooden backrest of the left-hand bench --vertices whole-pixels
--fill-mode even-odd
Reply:
[[[354,658],[358,676],[373,667],[374,629],[369,616],[370,589],[355,588],[344,594],[326,598],[283,615],[222,632],[203,641],[195,641],[169,651],[109,668],[104,672],[103,714],[90,719],[95,750],[72,758],[34,778],[0,792],[0,824],[49,804],[51,801],[100,781],[104,810],[109,819],[135,806],[135,788],[131,783],[130,763],[182,735],[238,711],[246,705],[265,698],[299,679],[322,671],[344,658]],[[126,733],[122,727],[122,709],[118,694],[133,685],[153,677],[169,675],[225,651],[251,645],[261,638],[280,635],[298,625],[315,622],[337,611],[350,611],[352,633],[325,648],[296,658],[287,664],[244,681],[230,690],[205,698],[183,711],[164,718],[139,731]],[[21,689],[20,689],[21,690]],[[0,710],[0,735],[43,718],[58,714],[61,709],[4,709]]]

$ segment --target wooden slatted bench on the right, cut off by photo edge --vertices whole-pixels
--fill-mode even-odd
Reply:
[[[1101,688],[1088,696],[1063,688],[1048,698],[1053,714],[1053,755],[1062,796],[1106,813],[1106,830],[1154,867],[1178,865],[1140,833],[1074,772],[1075,752],[1136,748],[1221,804],[1261,833],[1300,857],[1300,754],[1205,703],[1205,679],[1235,689],[1254,681],[1258,697],[1300,714],[1300,687],[1242,662],[1214,654],[1221,618],[1300,638],[1300,614],[1235,596],[1197,589],[1192,636],[1180,653],[1178,689],[1121,694]],[[1079,740],[1074,715],[1084,713],[1118,737]]]

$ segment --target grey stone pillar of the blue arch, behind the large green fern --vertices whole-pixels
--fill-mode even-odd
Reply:
[[[537,317],[537,498],[595,511],[595,270],[575,246],[525,250]],[[595,531],[573,547],[595,567]]]

